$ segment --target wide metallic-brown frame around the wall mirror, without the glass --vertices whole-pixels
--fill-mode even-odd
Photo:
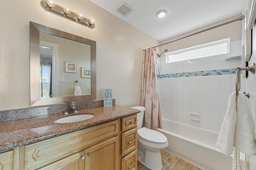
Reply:
[[[56,98],[40,98],[40,36],[48,33],[58,37],[70,39],[91,46],[91,94],[82,96],[66,96]],[[96,99],[96,41],[79,37],[58,29],[40,25],[30,21],[30,106],[62,104]]]

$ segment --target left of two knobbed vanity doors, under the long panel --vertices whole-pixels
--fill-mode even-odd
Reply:
[[[38,170],[84,170],[84,150],[46,165]]]

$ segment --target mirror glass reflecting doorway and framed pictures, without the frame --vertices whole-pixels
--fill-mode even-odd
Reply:
[[[90,51],[88,44],[40,32],[40,98],[90,95]]]

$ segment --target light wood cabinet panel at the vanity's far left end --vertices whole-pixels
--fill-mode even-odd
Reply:
[[[0,170],[12,170],[13,150],[0,153]]]

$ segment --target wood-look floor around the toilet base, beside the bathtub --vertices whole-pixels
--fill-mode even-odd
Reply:
[[[161,157],[163,162],[162,170],[202,170],[164,150],[161,150]],[[138,162],[138,170],[150,169],[146,168],[140,162]]]

